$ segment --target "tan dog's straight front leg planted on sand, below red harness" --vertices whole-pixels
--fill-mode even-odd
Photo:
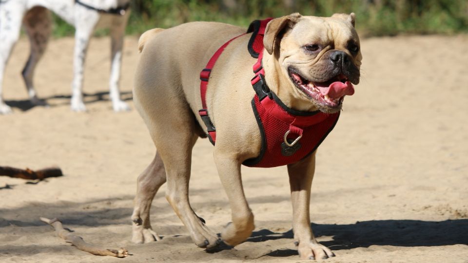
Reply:
[[[311,229],[309,205],[315,170],[315,153],[306,159],[288,165],[292,200],[292,229],[301,259],[327,259],[334,257],[331,250],[315,240]]]

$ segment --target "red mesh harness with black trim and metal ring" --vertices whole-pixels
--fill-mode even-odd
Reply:
[[[339,113],[295,111],[284,105],[276,94],[270,91],[262,67],[263,36],[270,20],[255,20],[247,31],[247,33],[253,32],[248,45],[249,53],[258,58],[253,66],[255,76],[251,80],[255,90],[252,109],[262,137],[260,155],[243,163],[249,167],[276,167],[302,160],[317,149],[333,129],[339,117]],[[243,35],[245,34],[240,36]],[[216,60],[235,38],[222,45],[200,73],[203,109],[199,111],[199,114],[207,127],[208,138],[213,145],[216,141],[216,129],[208,116],[205,101],[206,89]]]

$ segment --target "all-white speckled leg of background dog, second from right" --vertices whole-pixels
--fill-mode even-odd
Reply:
[[[88,48],[89,39],[99,20],[99,14],[93,10],[88,10],[83,6],[75,5],[75,51],[74,70],[72,83],[71,108],[75,112],[84,112],[86,107],[83,103],[83,74],[84,60]]]

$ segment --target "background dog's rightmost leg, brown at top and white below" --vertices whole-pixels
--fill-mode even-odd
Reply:
[[[120,91],[118,88],[120,80],[120,66],[122,63],[122,48],[123,37],[125,34],[125,26],[127,25],[130,12],[124,16],[114,17],[111,24],[111,76],[109,81],[110,97],[114,111],[129,111],[130,107],[120,99]]]

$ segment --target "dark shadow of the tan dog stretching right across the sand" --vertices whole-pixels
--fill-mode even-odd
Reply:
[[[440,222],[421,220],[373,220],[350,225],[312,224],[316,237],[331,236],[332,241],[321,244],[332,250],[369,247],[371,245],[391,246],[443,246],[468,245],[468,219]],[[282,238],[293,238],[292,230],[274,233],[262,229],[252,233],[248,242],[263,242]],[[281,249],[268,254],[272,257],[297,255],[296,250]]]

